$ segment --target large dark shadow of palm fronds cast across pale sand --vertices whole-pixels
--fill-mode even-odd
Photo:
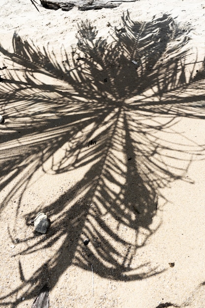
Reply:
[[[71,58],[62,49],[61,63],[49,48],[40,50],[16,33],[14,52],[0,46],[13,63],[0,83],[6,120],[0,188],[8,189],[1,210],[18,193],[18,224],[22,197],[39,169],[54,175],[87,170],[57,201],[25,217],[29,225],[30,217],[44,211],[52,227],[46,240],[21,239],[28,245],[21,255],[49,249],[65,237],[31,279],[1,297],[2,305],[14,303],[9,297],[19,290],[31,298],[47,281],[45,268],[51,287],[71,264],[87,270],[92,264],[98,275],[120,280],[159,273],[147,271],[147,264],[133,266],[133,258],[160,225],[153,224],[160,189],[185,180],[193,157],[204,150],[175,129],[182,117],[205,117],[204,73],[194,76],[197,60],[187,62],[189,31],[169,15],[135,23],[127,13],[120,28],[112,29],[111,42],[98,37],[89,22],[79,25],[78,46]],[[15,228],[10,227],[13,241]]]

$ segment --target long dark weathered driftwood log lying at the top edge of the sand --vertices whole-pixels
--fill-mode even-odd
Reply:
[[[69,11],[74,6],[77,6],[81,11],[96,10],[101,8],[114,8],[122,2],[135,2],[136,0],[40,0],[45,8],[63,11]]]

